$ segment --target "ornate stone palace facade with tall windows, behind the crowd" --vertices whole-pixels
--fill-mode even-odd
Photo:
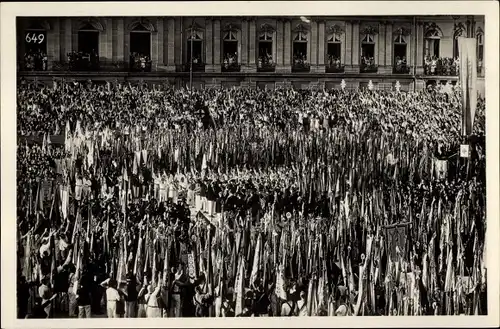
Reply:
[[[19,17],[17,64],[39,81],[413,90],[456,83],[460,36],[484,94],[484,16]]]

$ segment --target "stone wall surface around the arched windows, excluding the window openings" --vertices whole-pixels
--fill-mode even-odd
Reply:
[[[173,73],[176,68],[186,64],[190,51],[187,47],[187,38],[191,27],[193,27],[202,37],[202,60],[205,63],[205,74],[196,73],[196,78],[203,80],[205,86],[219,86],[225,80],[229,81],[226,82],[226,85],[239,83],[240,85],[255,87],[257,85],[269,85],[269,82],[260,81],[260,75],[257,73],[258,36],[261,29],[268,26],[273,31],[272,57],[276,63],[276,70],[273,74],[275,80],[279,82],[278,85],[293,84],[290,79],[309,81],[302,78],[301,73],[292,73],[293,39],[297,31],[302,30],[305,31],[307,38],[307,59],[310,64],[310,74],[316,74],[317,76],[313,79],[316,82],[301,83],[301,86],[309,84],[311,87],[315,87],[324,85],[321,82],[324,79],[337,81],[339,77],[343,77],[346,81],[357,80],[356,77],[350,75],[359,74],[361,40],[364,37],[363,31],[368,28],[376,31],[374,57],[378,65],[377,72],[372,73],[368,80],[372,80],[372,82],[381,79],[392,81],[382,84],[386,88],[393,85],[396,80],[426,79],[426,77],[422,77],[425,55],[424,34],[432,23],[436,24],[441,32],[441,57],[453,57],[453,41],[457,27],[465,27],[467,35],[470,36],[475,36],[477,32],[484,35],[483,16],[474,17],[474,24],[471,24],[470,16],[377,16],[356,18],[323,16],[311,17],[309,23],[302,22],[297,17],[19,18],[17,25],[18,61],[23,60],[26,51],[25,34],[33,25],[42,26],[42,28],[46,29],[49,71],[64,65],[67,62],[67,54],[78,50],[78,32],[83,27],[90,25],[99,32],[101,70],[123,71],[126,70],[129,62],[130,33],[134,26],[142,24],[149,31],[145,33],[145,36],[151,38],[152,71]],[[327,40],[334,27],[340,30],[341,62],[345,65],[345,72],[326,74],[325,66],[328,63]],[[238,63],[241,65],[240,74],[244,75],[236,80],[229,79],[231,73],[221,77],[210,76],[210,74],[221,72],[224,54],[223,37],[228,29],[234,31],[237,36]],[[411,66],[411,71],[409,75],[391,76],[393,75],[394,65],[395,33],[398,33],[401,29],[408,33],[406,36],[406,57],[408,65]],[[416,73],[415,77],[413,73]],[[271,79],[273,74],[270,76]],[[287,78],[282,78],[283,74]],[[484,76],[484,70],[478,72],[478,75],[480,77]],[[362,75],[359,75],[359,79],[367,80],[366,76]],[[415,79],[413,83],[415,83]],[[456,77],[450,79],[453,80]],[[298,85],[298,83],[296,84]],[[484,93],[484,91],[482,92]]]

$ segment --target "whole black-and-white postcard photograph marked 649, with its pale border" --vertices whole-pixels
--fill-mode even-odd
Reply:
[[[484,13],[162,5],[15,17],[17,320],[489,315]]]

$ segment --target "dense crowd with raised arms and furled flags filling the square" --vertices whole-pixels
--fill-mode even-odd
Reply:
[[[486,312],[484,100],[467,161],[458,90],[17,104],[18,317]]]

